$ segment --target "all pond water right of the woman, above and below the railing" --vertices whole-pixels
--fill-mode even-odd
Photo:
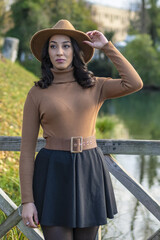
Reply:
[[[160,94],[140,91],[106,101],[101,114],[118,116],[130,139],[160,139]],[[157,201],[160,202],[160,157],[116,155],[115,158]],[[113,176],[119,213],[102,227],[102,240],[147,240],[159,229],[159,221]]]

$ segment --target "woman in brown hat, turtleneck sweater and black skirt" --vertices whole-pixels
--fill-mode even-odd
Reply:
[[[101,49],[120,79],[95,77],[86,63]],[[42,77],[28,92],[20,155],[22,218],[40,222],[45,239],[92,240],[117,213],[107,166],[95,139],[103,102],[142,88],[124,56],[99,31],[83,33],[67,20],[35,33],[31,50]],[[46,145],[37,154],[40,125]],[[107,157],[110,157],[109,155]]]

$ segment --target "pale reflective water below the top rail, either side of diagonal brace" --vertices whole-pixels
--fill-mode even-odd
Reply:
[[[115,155],[117,161],[126,171],[142,184],[157,201],[160,202],[159,183],[149,186],[146,161],[150,156]],[[160,165],[160,157],[157,157]],[[147,240],[159,229],[159,221],[137,199],[112,176],[116,195],[118,214],[108,225],[102,227],[102,240]]]

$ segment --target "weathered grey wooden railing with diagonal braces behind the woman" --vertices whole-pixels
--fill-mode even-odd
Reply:
[[[20,151],[21,137],[0,136],[0,151]],[[160,141],[156,140],[108,140],[97,139],[97,145],[102,149],[103,154],[134,154],[134,155],[160,155]],[[36,152],[45,146],[45,139],[38,138]],[[144,188],[133,179],[123,167],[113,158],[105,158],[111,174],[115,176],[149,212],[160,221],[160,204]],[[28,239],[43,239],[38,229],[26,227],[21,219],[21,206],[17,207],[1,190],[0,209],[6,213],[8,218],[0,225],[0,237],[12,227],[17,227]],[[9,209],[9,210],[8,210]],[[101,239],[101,228],[96,240]],[[148,240],[160,239],[160,229]]]

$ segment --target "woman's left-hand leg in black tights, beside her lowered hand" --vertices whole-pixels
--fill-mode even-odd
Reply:
[[[45,240],[73,240],[73,228],[41,225]]]

